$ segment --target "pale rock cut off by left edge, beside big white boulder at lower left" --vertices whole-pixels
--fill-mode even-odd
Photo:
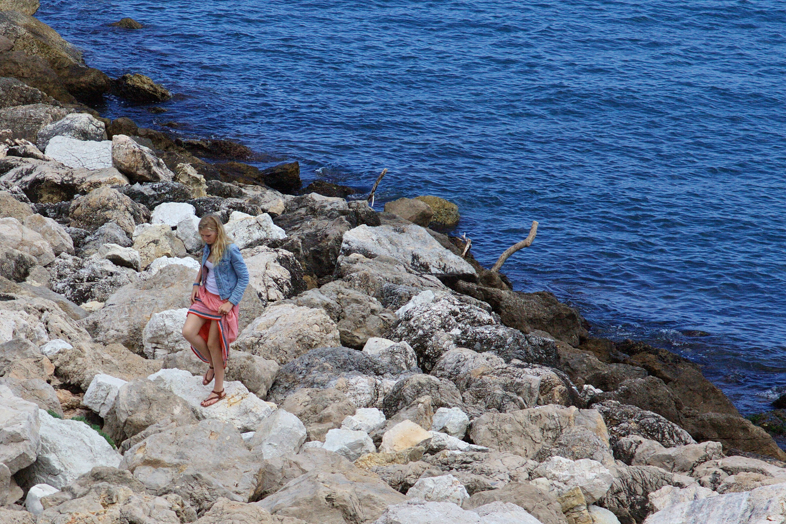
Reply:
[[[39,406],[0,386],[0,463],[13,475],[35,462],[41,449]]]

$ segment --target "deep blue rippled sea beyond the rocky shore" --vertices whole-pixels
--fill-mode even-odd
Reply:
[[[745,413],[786,386],[786,3],[42,2],[108,75],[105,116],[230,137],[376,207],[433,194],[490,266],[613,339],[706,365]],[[131,16],[138,31],[108,27]],[[689,337],[685,330],[711,335]]]

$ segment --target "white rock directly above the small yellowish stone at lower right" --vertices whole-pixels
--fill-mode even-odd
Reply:
[[[553,456],[532,472],[534,477],[548,478],[565,486],[582,490],[587,504],[603,497],[614,482],[611,471],[597,460],[570,460]]]

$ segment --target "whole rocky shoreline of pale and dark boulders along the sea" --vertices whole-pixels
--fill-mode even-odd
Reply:
[[[786,453],[699,366],[512,291],[428,228],[444,200],[380,213],[102,119],[83,104],[169,93],[87,67],[35,9],[0,2],[0,522],[786,516]],[[207,409],[180,335],[206,213],[251,274]]]

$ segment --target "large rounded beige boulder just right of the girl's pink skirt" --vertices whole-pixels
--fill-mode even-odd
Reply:
[[[237,348],[283,365],[324,346],[339,346],[336,324],[323,310],[273,304],[237,337]]]

